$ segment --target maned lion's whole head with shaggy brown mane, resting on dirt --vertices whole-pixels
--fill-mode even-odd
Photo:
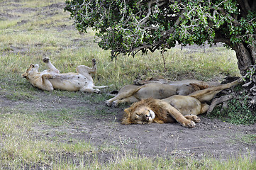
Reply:
[[[157,101],[157,99],[148,98],[133,103],[130,108],[124,110],[122,123],[129,125],[173,122],[173,118],[167,115],[165,108],[158,105]]]

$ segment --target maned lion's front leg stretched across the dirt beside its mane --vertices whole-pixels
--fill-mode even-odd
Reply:
[[[173,106],[169,105],[169,103],[162,101],[160,103],[160,105],[162,105],[163,108],[167,109],[167,112],[169,113],[169,115],[171,115],[172,118],[177,120],[178,123],[182,124],[182,126],[184,126],[186,128],[194,128],[195,127],[196,123],[194,123],[194,121],[187,120],[187,118],[185,118],[184,115],[182,115],[182,113],[180,113]]]

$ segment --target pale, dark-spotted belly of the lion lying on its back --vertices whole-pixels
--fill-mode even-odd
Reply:
[[[79,91],[87,85],[87,78],[82,74],[56,74],[55,78],[49,80],[54,89],[65,91]]]

